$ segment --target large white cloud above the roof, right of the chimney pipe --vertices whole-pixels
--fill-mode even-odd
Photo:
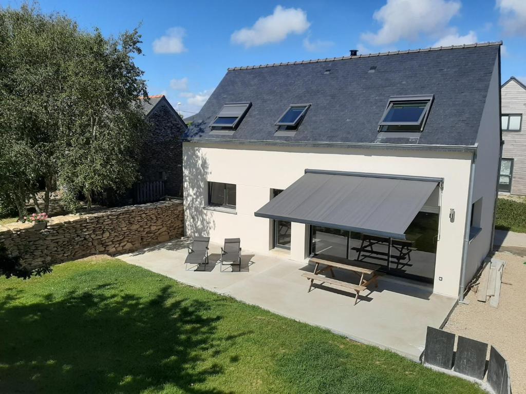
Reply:
[[[400,39],[417,40],[420,34],[440,36],[447,32],[460,7],[454,0],[387,0],[373,14],[382,27],[377,33],[362,34],[361,39],[372,45],[388,45]]]

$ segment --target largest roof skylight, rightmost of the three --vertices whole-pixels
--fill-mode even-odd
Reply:
[[[422,131],[434,96],[395,96],[389,99],[379,131]]]

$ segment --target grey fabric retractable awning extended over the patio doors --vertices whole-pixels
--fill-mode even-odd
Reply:
[[[442,180],[306,170],[254,214],[274,220],[405,239],[407,227]]]

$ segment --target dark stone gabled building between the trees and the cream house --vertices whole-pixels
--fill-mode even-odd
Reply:
[[[141,153],[141,181],[164,181],[164,194],[182,196],[186,123],[164,95],[149,96],[149,102],[143,100],[143,108],[151,133]]]

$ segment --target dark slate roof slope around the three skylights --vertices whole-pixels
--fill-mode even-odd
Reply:
[[[390,96],[434,95],[426,127],[412,142],[473,145],[501,44],[230,68],[185,138],[373,143]],[[252,107],[232,135],[210,134],[225,103],[248,101]],[[294,136],[275,136],[274,123],[292,103],[311,107]]]

